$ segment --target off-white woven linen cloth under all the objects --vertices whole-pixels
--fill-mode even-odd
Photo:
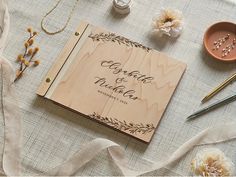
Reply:
[[[133,0],[131,13],[122,17],[113,12],[111,0],[80,0],[66,30],[49,36],[40,29],[40,21],[56,3],[55,0],[8,0],[11,28],[4,56],[15,68],[16,56],[23,50],[27,38],[26,28],[40,32],[36,41],[40,46],[41,65],[28,69],[16,83],[18,101],[23,119],[23,174],[37,174],[60,164],[79,150],[83,144],[96,137],[104,137],[122,145],[128,162],[138,166],[145,159],[158,161],[167,158],[182,143],[199,131],[214,125],[235,120],[236,102],[217,109],[199,119],[186,122],[185,118],[201,107],[200,100],[213,87],[236,71],[235,63],[218,63],[208,57],[202,48],[206,28],[218,21],[236,21],[236,5],[232,0]],[[47,27],[62,26],[74,0],[62,0],[55,13],[49,16]],[[152,17],[162,7],[181,10],[185,18],[183,34],[176,40],[156,39],[151,35]],[[117,32],[146,46],[184,61],[188,68],[163,119],[149,145],[87,120],[36,96],[41,79],[53,64],[69,36],[81,20]],[[232,84],[211,102],[233,94]],[[145,119],[145,117],[144,117]],[[3,142],[3,125],[0,127],[0,150]],[[236,163],[236,142],[216,145]],[[201,147],[202,148],[202,147]],[[195,148],[171,171],[162,170],[150,175],[189,175],[190,161],[199,148]],[[0,156],[1,157],[1,156]],[[80,169],[77,175],[120,175],[107,152]]]

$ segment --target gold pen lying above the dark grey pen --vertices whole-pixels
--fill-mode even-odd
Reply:
[[[236,80],[236,73],[233,74],[231,77],[226,79],[224,82],[222,82],[218,87],[216,87],[214,90],[212,90],[207,96],[205,96],[202,99],[202,103],[205,103],[206,101],[210,100],[213,96],[215,96],[217,93],[219,93],[223,88],[225,88],[227,85],[232,83]]]

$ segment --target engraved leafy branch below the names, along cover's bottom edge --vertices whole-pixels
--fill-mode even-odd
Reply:
[[[109,125],[115,129],[121,130],[121,131],[129,131],[131,134],[147,134],[152,132],[155,127],[153,124],[142,124],[142,123],[129,123],[125,120],[120,121],[118,119],[108,118],[108,117],[102,117],[97,113],[93,113],[89,115],[90,118],[98,120],[106,125]]]

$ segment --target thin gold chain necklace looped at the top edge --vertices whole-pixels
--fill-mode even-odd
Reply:
[[[67,18],[67,21],[66,21],[65,25],[64,25],[61,29],[59,29],[59,30],[57,30],[57,31],[49,31],[49,30],[47,30],[46,27],[44,26],[44,20],[46,19],[46,17],[47,17],[49,14],[51,14],[51,13],[57,8],[57,6],[60,4],[61,1],[62,1],[62,0],[58,0],[57,3],[55,4],[55,6],[53,6],[52,9],[49,10],[49,11],[43,16],[43,18],[42,18],[42,20],[41,20],[41,28],[42,28],[42,30],[43,30],[45,33],[49,34],[49,35],[54,35],[54,34],[57,34],[57,33],[60,33],[60,32],[62,32],[62,31],[64,31],[64,29],[67,27],[67,25],[68,25],[68,23],[69,23],[69,21],[70,21],[70,19],[71,19],[71,17],[72,17],[72,14],[73,14],[73,12],[74,12],[74,10],[75,10],[75,7],[76,7],[76,5],[77,5],[77,3],[78,3],[79,0],[75,0],[75,3],[74,3],[74,5],[73,5],[73,7],[72,7],[72,9],[71,9],[71,11],[70,11],[70,14],[69,14],[69,16],[68,16],[68,18]]]

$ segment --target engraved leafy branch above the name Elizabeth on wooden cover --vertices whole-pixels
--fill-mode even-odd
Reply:
[[[151,48],[146,47],[138,42],[131,41],[125,37],[118,36],[115,33],[98,33],[98,34],[93,34],[91,33],[89,36],[93,41],[110,41],[110,42],[117,42],[118,44],[125,44],[126,46],[129,47],[136,47],[136,48],[142,48],[149,52]]]

